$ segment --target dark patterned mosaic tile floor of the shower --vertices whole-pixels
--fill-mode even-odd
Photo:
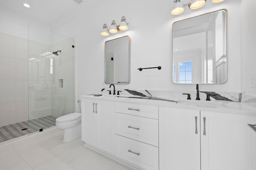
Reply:
[[[57,117],[50,115],[40,117],[38,119],[2,126],[0,127],[0,142],[33,133],[39,131],[39,129],[46,129],[48,127],[55,126],[56,118]]]

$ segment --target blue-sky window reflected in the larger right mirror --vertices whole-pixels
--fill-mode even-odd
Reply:
[[[179,83],[192,83],[192,61],[179,62]]]

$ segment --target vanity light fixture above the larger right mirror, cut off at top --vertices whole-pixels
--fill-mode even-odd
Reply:
[[[212,0],[212,2],[214,3],[218,3],[222,1],[224,0]],[[172,15],[179,15],[182,12],[184,12],[184,6],[188,6],[188,8],[190,8],[191,10],[195,10],[204,6],[204,4],[206,3],[206,0],[191,0],[189,3],[184,5],[180,2],[180,0],[174,0],[173,3],[175,4],[172,8],[171,13]]]

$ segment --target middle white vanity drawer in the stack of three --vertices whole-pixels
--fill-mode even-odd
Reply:
[[[116,113],[116,134],[158,147],[158,120]]]

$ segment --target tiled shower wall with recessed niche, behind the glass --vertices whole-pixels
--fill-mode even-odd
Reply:
[[[52,93],[52,115],[59,117],[74,112],[74,39],[64,39],[52,45],[53,51],[61,50],[54,57],[54,87]],[[63,79],[60,88],[59,79]]]

